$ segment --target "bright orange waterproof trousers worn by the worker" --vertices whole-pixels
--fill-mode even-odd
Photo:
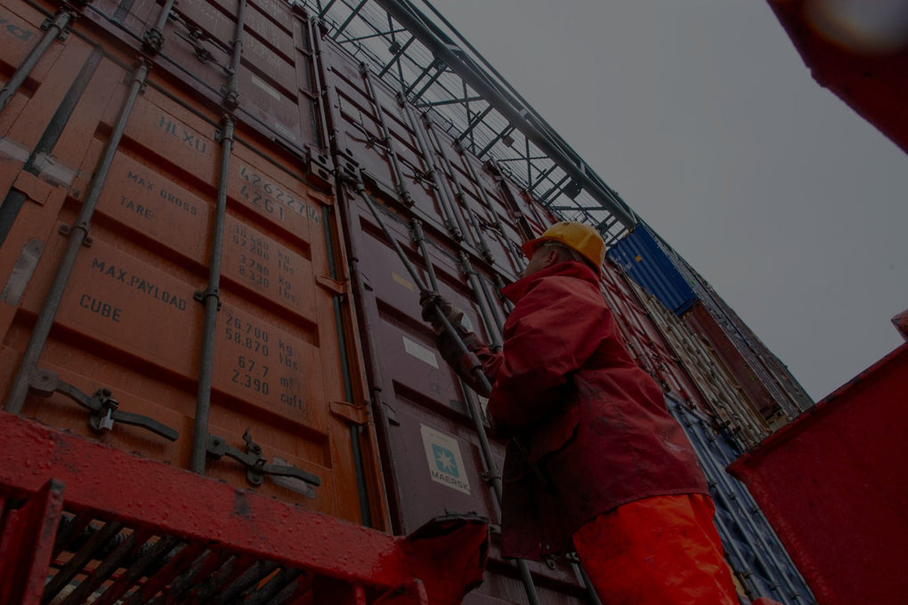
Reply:
[[[573,535],[607,605],[738,605],[709,496],[657,496],[600,514]]]

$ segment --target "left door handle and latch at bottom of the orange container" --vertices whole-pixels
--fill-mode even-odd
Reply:
[[[117,408],[120,402],[114,399],[111,390],[103,386],[94,392],[94,395],[85,395],[74,385],[60,380],[55,372],[36,369],[28,384],[29,390],[35,395],[49,397],[54,393],[66,395],[75,403],[82,405],[92,414],[88,416],[88,425],[95,433],[104,433],[114,428],[114,422],[131,424],[139,428],[161,435],[169,441],[176,441],[180,434],[170,426],[159,423],[148,416],[121,412]]]

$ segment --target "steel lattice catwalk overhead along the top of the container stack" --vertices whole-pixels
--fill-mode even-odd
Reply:
[[[439,128],[565,220],[611,243],[637,215],[429,4],[408,0],[291,0],[319,15],[328,36],[370,64]]]

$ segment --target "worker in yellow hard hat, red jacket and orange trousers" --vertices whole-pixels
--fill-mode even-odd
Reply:
[[[511,437],[502,554],[577,551],[607,605],[737,605],[694,449],[662,389],[627,354],[599,289],[603,240],[560,222],[523,251],[523,277],[502,289],[514,309],[500,352],[438,294],[421,298],[442,356],[480,392],[471,370],[481,363],[489,420]],[[471,355],[459,355],[436,305]]]

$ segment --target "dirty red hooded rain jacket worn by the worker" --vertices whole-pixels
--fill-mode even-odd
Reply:
[[[624,503],[708,495],[693,447],[627,354],[590,268],[558,263],[502,293],[515,307],[501,352],[472,334],[465,341],[492,382],[489,415],[515,438],[503,473],[505,556],[572,551],[581,525]]]

